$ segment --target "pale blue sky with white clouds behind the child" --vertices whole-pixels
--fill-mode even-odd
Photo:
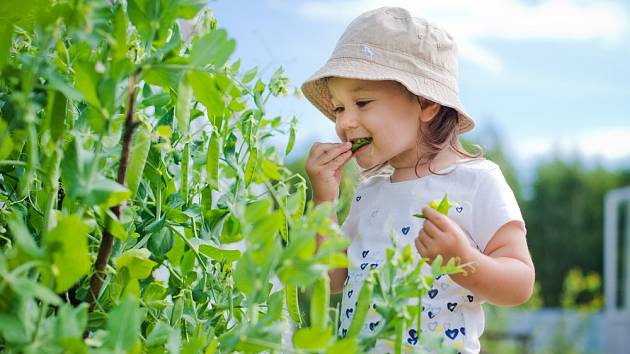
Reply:
[[[552,151],[630,163],[630,2],[514,0],[219,0],[219,27],[242,68],[268,78],[283,67],[299,87],[321,67],[360,13],[403,6],[449,31],[460,52],[460,96],[477,128],[502,133],[517,166]],[[338,141],[333,124],[302,98],[270,102],[299,118],[295,158],[314,141]],[[282,139],[280,137],[279,139]]]

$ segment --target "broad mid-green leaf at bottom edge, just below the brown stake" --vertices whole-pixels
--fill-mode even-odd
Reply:
[[[140,335],[143,318],[144,311],[138,308],[138,300],[133,296],[123,297],[107,318],[107,347],[115,352],[125,352],[133,347]]]

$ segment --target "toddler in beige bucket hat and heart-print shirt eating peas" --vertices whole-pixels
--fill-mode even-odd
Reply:
[[[350,159],[368,176],[342,225],[350,240],[350,266],[329,273],[331,291],[343,292],[342,336],[363,279],[383,264],[391,247],[390,230],[398,247],[413,245],[417,259],[430,264],[437,255],[444,262],[457,257],[474,268],[435,281],[422,299],[422,328],[405,330],[406,345],[421,347],[421,330],[441,335],[455,352],[479,353],[481,305],[514,306],[532,293],[534,266],[519,206],[499,167],[459,142],[459,134],[474,123],[458,90],[453,38],[392,7],[352,21],[330,59],[302,85],[308,100],[335,123],[341,140],[310,149],[305,167],[314,203],[337,200],[340,174]],[[425,219],[413,217],[445,194],[453,204],[448,215],[425,207]],[[379,325],[368,320],[362,333]],[[377,342],[374,351],[392,349]]]

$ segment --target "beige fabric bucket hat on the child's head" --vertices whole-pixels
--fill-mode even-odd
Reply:
[[[474,127],[459,100],[457,46],[445,30],[399,7],[354,19],[326,64],[302,84],[304,96],[335,121],[325,78],[394,80],[410,92],[459,113],[458,132]]]

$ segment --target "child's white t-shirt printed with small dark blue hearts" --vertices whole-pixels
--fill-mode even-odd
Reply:
[[[388,175],[374,176],[357,187],[348,217],[341,226],[351,241],[347,250],[350,266],[340,313],[342,336],[352,322],[363,279],[370,269],[384,263],[385,250],[392,247],[390,235],[396,238],[399,249],[410,244],[415,251],[415,261],[419,260],[414,239],[424,219],[413,214],[432,200],[442,199],[445,193],[448,195],[453,204],[448,216],[481,252],[501,226],[512,220],[523,222],[514,193],[495,163],[467,159],[438,173],[443,175],[395,183]],[[424,266],[422,274],[430,274],[428,265]],[[450,277],[439,277],[422,299],[422,331],[441,334],[444,345],[457,349],[458,353],[479,353],[479,337],[484,328],[483,302]],[[380,315],[370,310],[362,333],[377,331],[379,325],[382,326]],[[406,328],[403,341],[417,345],[417,328]],[[379,341],[374,352],[393,352],[393,345]]]

